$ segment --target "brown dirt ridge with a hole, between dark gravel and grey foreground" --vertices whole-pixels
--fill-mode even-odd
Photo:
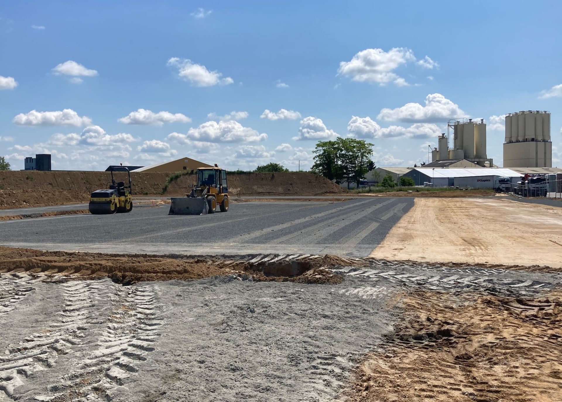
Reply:
[[[279,264],[251,264],[219,257],[171,258],[143,255],[112,255],[64,251],[40,251],[0,247],[0,274],[25,272],[42,274],[60,281],[110,278],[130,285],[143,281],[197,280],[215,276],[250,276],[254,281],[338,284],[342,276],[327,270],[337,257],[326,256],[324,263],[302,260]]]

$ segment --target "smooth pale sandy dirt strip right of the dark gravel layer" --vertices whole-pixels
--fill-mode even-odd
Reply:
[[[498,198],[416,198],[370,255],[562,267],[562,209]]]

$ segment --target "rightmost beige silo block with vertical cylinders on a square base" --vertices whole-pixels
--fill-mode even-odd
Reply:
[[[504,167],[551,166],[550,112],[526,110],[506,114]]]

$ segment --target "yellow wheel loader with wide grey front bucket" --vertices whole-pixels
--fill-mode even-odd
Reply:
[[[168,215],[206,215],[217,209],[228,212],[228,184],[226,170],[219,168],[197,169],[197,183],[185,197],[171,197]]]

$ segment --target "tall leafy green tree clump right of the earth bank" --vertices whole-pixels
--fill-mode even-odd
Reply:
[[[373,163],[373,144],[355,138],[337,138],[334,141],[319,141],[314,153],[312,169],[336,183],[355,182],[369,172],[369,163]]]

